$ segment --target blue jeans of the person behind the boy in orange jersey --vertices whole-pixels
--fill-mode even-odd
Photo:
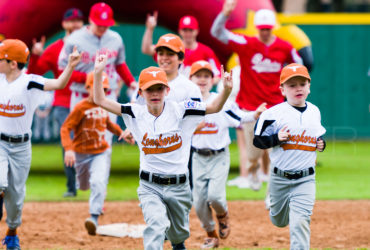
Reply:
[[[58,130],[63,125],[65,119],[69,114],[69,108],[55,106],[53,111],[53,116],[58,124]],[[63,149],[63,159],[64,159],[64,149]],[[67,177],[67,191],[76,194],[76,170],[74,167],[67,167],[64,164],[64,174]]]

